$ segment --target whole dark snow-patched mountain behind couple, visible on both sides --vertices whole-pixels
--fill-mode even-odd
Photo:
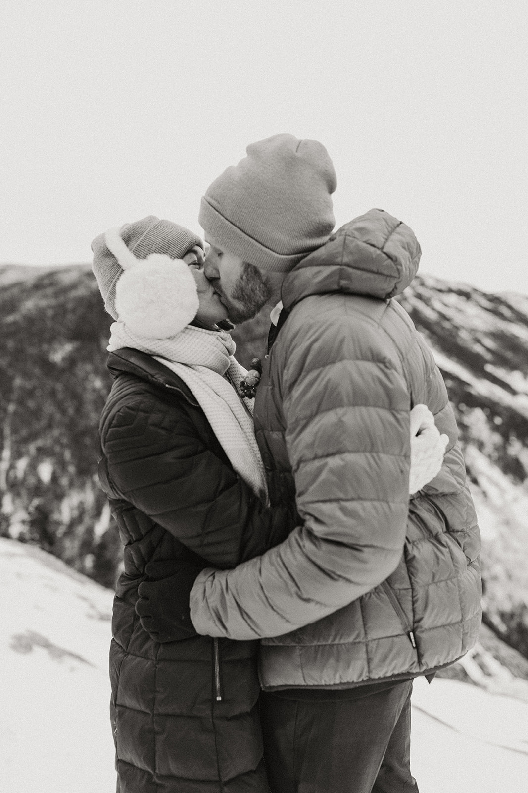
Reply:
[[[485,619],[528,658],[528,297],[418,276],[401,303],[457,412],[483,537]],[[266,314],[234,331],[245,366],[265,352]],[[95,464],[110,322],[89,266],[0,266],[0,535],[105,585],[120,565]]]

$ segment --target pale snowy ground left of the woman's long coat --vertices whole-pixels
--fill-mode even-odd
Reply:
[[[35,546],[0,539],[0,600],[0,790],[115,790],[112,592]]]

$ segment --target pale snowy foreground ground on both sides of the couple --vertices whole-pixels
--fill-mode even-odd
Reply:
[[[109,793],[112,592],[0,538],[0,598],[0,790]],[[420,679],[412,719],[422,793],[519,793],[528,778],[528,702]]]

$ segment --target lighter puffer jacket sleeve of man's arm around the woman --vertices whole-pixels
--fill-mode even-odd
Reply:
[[[191,593],[198,633],[286,634],[344,607],[397,567],[408,514],[410,396],[377,333],[303,327],[283,340],[279,387],[302,525],[234,570],[199,574]]]

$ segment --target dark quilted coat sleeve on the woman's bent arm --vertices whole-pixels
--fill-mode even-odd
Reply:
[[[265,508],[183,410],[129,398],[101,446],[120,496],[215,567],[261,554],[287,533],[286,511]]]

